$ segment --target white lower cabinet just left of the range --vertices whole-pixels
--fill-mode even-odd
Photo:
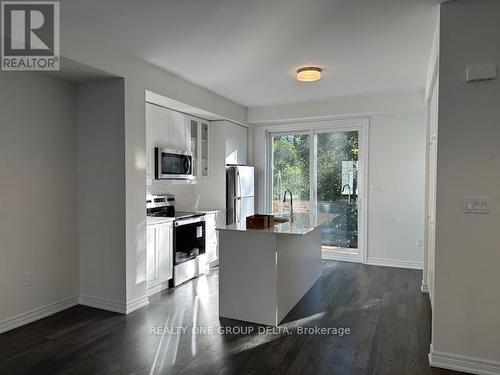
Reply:
[[[146,229],[146,289],[148,295],[168,287],[173,277],[173,223],[148,225]]]

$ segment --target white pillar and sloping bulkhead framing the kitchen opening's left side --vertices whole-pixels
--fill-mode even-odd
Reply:
[[[61,51],[69,59],[125,79],[125,206],[127,302],[146,296],[146,127],[145,91],[172,98],[220,118],[238,123],[246,120],[246,109],[228,99],[196,86],[169,72],[104,45],[101,41],[61,34]]]

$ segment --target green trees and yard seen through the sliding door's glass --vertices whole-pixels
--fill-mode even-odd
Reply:
[[[357,176],[354,176],[354,186],[350,186],[352,195],[349,200],[348,196],[342,195],[342,162],[358,160],[358,132],[320,133],[317,135],[317,149],[319,211],[338,215],[332,223],[322,226],[322,242],[356,248]],[[282,199],[284,190],[290,189],[295,202],[309,201],[309,152],[308,134],[273,138],[273,200]]]

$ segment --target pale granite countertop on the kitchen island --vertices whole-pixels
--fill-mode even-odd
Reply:
[[[320,225],[327,224],[335,220],[339,215],[337,214],[318,214],[316,216],[309,213],[295,213],[293,223],[278,223],[266,229],[247,229],[246,223],[230,224],[218,227],[217,230],[229,230],[240,232],[256,232],[256,233],[274,233],[274,234],[291,234],[291,235],[304,235],[312,232]]]

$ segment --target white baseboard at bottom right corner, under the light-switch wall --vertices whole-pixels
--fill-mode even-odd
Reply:
[[[429,364],[432,367],[441,367],[448,370],[469,372],[481,375],[499,375],[500,362],[490,361],[464,355],[439,352],[431,344]]]

